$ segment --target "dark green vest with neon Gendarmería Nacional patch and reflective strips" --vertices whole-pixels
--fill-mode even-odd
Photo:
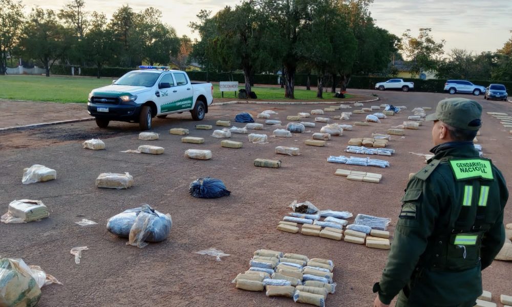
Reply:
[[[454,195],[447,195],[446,199],[452,203],[450,221],[445,224],[447,228],[434,232],[419,265],[431,270],[464,271],[480,264],[482,236],[499,212],[489,211],[489,194],[497,195],[498,187],[490,160],[448,158],[445,161],[455,181]]]

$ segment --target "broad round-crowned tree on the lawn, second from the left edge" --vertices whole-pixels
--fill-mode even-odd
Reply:
[[[57,23],[56,17],[53,10],[32,9],[20,42],[27,57],[41,61],[47,77],[52,65],[65,55],[71,45],[67,40],[70,33]]]

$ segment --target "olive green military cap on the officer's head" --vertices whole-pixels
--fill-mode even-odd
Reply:
[[[440,120],[455,128],[478,130],[482,126],[482,106],[475,100],[466,98],[447,98],[439,101],[436,113],[426,116],[425,120]]]

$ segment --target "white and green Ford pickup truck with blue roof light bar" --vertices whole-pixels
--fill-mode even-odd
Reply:
[[[141,130],[148,130],[155,116],[164,118],[190,111],[194,120],[202,120],[213,93],[211,83],[190,82],[183,71],[139,66],[139,70],[126,73],[112,85],[92,90],[87,111],[100,128],[113,120],[139,123]]]

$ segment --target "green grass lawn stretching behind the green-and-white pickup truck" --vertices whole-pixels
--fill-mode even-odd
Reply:
[[[0,76],[0,98],[12,100],[87,102],[91,90],[109,85],[114,78],[45,77],[28,75]],[[240,86],[240,89],[243,87]],[[281,87],[253,86],[259,100],[288,100]],[[324,99],[333,97],[324,93]],[[214,84],[214,98],[221,98],[219,85]],[[224,98],[235,99],[234,92],[224,92]],[[347,95],[350,98],[350,95]],[[238,98],[237,98],[238,99]],[[316,91],[295,89],[296,100],[321,100]]]

